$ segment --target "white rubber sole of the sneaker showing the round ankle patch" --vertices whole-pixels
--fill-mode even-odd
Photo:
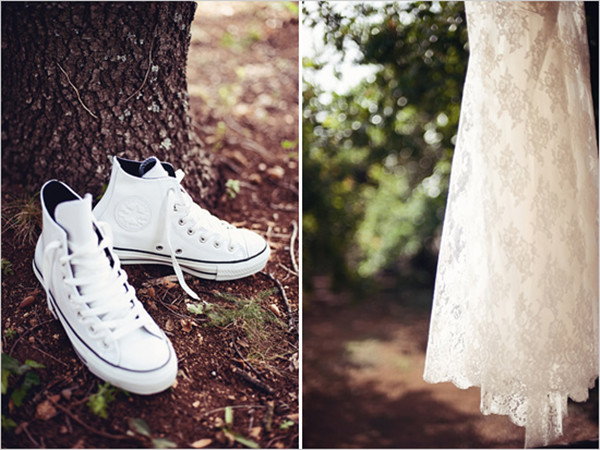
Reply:
[[[160,255],[146,250],[133,250],[114,247],[113,251],[119,257],[122,265],[126,264],[163,264],[172,266],[171,257]],[[211,263],[205,261],[191,261],[177,258],[181,270],[205,280],[227,281],[245,278],[260,272],[267,265],[271,249],[267,245],[256,256],[243,261]]]

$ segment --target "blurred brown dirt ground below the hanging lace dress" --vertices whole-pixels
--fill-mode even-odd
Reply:
[[[480,413],[479,389],[423,381],[431,290],[355,303],[315,286],[303,298],[305,448],[523,448],[521,427]],[[598,448],[597,395],[570,403],[556,445]]]

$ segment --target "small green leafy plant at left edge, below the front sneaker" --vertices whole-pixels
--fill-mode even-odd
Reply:
[[[10,399],[16,407],[23,404],[33,386],[40,384],[40,378],[33,369],[45,369],[45,366],[31,359],[19,364],[12,356],[2,353],[2,395],[10,391]]]

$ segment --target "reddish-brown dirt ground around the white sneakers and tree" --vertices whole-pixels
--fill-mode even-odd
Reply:
[[[214,305],[215,316],[207,316],[188,311],[171,268],[125,266],[138,298],[168,333],[179,374],[174,387],[157,395],[115,392],[102,418],[87,405],[100,380],[82,365],[60,324],[51,319],[32,273],[34,243],[23,242],[19,230],[7,226],[26,202],[21,192],[3,186],[2,351],[20,363],[31,359],[45,368],[35,369],[40,383],[28,390],[21,406],[3,396],[3,416],[14,426],[3,430],[2,447],[170,445],[153,442],[156,438],[178,448],[298,446],[294,6],[199,2],[188,80],[194,127],[222,168],[223,196],[212,212],[265,236],[272,250],[267,267],[239,281],[188,277],[191,288]],[[31,204],[37,206],[37,200]],[[37,238],[39,229],[34,234]],[[232,421],[226,412],[233,413]],[[150,432],[136,428],[131,419],[143,419]]]

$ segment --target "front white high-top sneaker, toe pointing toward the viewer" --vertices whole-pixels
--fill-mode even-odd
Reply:
[[[91,196],[51,180],[40,198],[43,229],[33,271],[75,352],[114,386],[145,395],[167,389],[177,356],[127,282],[110,229],[94,220]]]

